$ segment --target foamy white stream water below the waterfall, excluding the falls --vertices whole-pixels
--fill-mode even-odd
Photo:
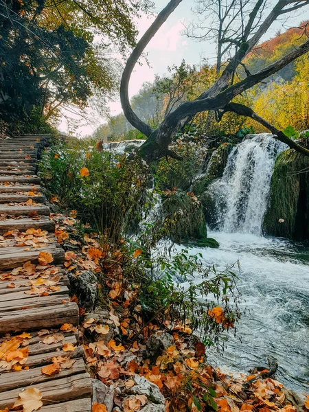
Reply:
[[[240,260],[238,288],[245,312],[222,356],[212,363],[248,371],[277,359],[277,378],[299,392],[309,390],[309,252],[301,244],[244,233],[209,233],[219,249],[193,248],[217,270]]]

